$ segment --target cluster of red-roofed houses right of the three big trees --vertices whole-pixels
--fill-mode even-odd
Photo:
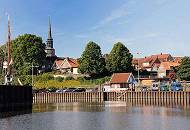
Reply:
[[[175,76],[176,68],[181,64],[183,57],[173,57],[170,54],[157,54],[144,58],[134,58],[132,64],[137,70],[156,72],[158,78]]]

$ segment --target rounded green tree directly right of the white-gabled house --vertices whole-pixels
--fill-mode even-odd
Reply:
[[[105,71],[105,60],[101,48],[94,42],[89,42],[79,59],[79,71],[82,74],[100,75]]]

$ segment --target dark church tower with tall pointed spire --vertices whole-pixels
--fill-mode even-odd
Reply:
[[[46,41],[46,57],[55,57],[55,49],[53,48],[53,38],[51,33],[51,22],[49,19],[48,39]]]

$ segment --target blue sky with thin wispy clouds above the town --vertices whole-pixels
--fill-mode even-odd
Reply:
[[[190,0],[1,0],[0,43],[7,16],[12,39],[32,33],[47,39],[51,16],[57,56],[80,57],[88,41],[109,53],[124,43],[137,57],[170,53],[190,55]]]

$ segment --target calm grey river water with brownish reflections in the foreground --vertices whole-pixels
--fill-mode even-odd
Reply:
[[[0,130],[190,130],[190,107],[126,102],[35,104],[0,119]]]

